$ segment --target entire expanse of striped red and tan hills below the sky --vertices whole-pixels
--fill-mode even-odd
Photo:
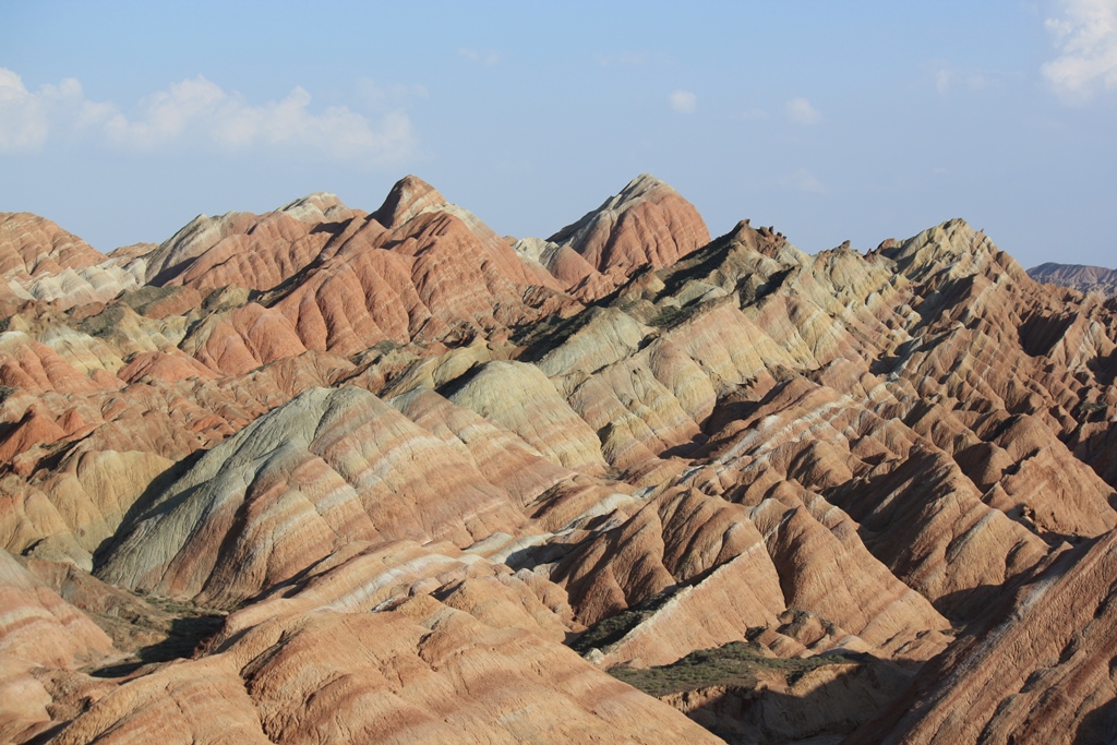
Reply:
[[[408,176],[0,271],[0,742],[1117,730],[1117,305],[963,220]]]

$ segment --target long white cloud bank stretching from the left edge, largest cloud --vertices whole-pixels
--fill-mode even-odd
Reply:
[[[402,112],[388,112],[373,126],[345,106],[314,113],[309,105],[311,94],[300,87],[280,101],[252,105],[199,75],[145,96],[130,117],[115,104],[85,98],[77,80],[31,93],[17,74],[0,68],[0,150],[35,149],[67,135],[134,150],[201,142],[232,151],[278,146],[381,163],[414,146],[411,122]]]

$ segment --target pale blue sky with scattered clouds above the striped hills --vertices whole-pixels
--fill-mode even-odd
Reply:
[[[547,236],[641,172],[814,252],[1117,266],[1117,0],[0,0],[0,211],[101,250],[414,173]]]

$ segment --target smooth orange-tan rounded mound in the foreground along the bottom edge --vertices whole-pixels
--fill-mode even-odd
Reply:
[[[432,599],[392,612],[265,622],[219,653],[122,686],[57,742],[108,733],[281,743],[719,742],[560,644]]]

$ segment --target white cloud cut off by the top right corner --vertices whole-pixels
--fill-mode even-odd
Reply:
[[[1059,56],[1040,71],[1070,98],[1087,98],[1100,86],[1117,88],[1117,0],[1061,0],[1062,16],[1044,26]]]

